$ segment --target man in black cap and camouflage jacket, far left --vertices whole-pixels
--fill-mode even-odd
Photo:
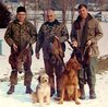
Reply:
[[[4,39],[7,44],[11,47],[11,55],[9,57],[9,63],[11,64],[12,72],[10,75],[10,88],[8,94],[14,92],[15,85],[17,83],[17,72],[22,72],[17,69],[17,61],[23,62],[24,69],[24,85],[26,86],[26,94],[32,93],[31,82],[33,73],[31,71],[32,45],[36,41],[37,33],[34,25],[26,21],[26,10],[24,7],[19,7],[16,10],[16,19],[12,21],[4,34]],[[22,52],[23,51],[23,52]],[[22,52],[22,56],[21,56]],[[21,67],[22,68],[22,67]]]

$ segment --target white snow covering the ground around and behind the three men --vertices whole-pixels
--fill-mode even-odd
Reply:
[[[108,23],[101,22],[100,23],[101,28],[104,31],[104,37],[99,40],[98,46],[100,50],[100,56],[108,55],[108,37],[107,37],[107,28]],[[68,28],[70,31],[70,26],[68,25]],[[0,39],[3,39],[5,29],[0,29]],[[35,45],[34,45],[35,49]],[[0,80],[5,80],[4,82],[0,82],[0,107],[38,107],[39,104],[33,104],[31,95],[25,94],[25,86],[23,85],[23,81],[19,81],[15,92],[12,95],[7,95],[7,91],[9,90],[10,82],[9,76],[11,73],[11,68],[8,62],[8,58],[10,55],[10,48],[5,44],[3,39],[2,45],[2,56],[0,56]],[[69,45],[67,44],[67,51],[65,51],[65,58],[64,61],[67,61],[70,58],[71,50],[69,50]],[[44,61],[43,61],[43,54],[40,51],[40,59],[35,58],[35,54],[33,56],[33,64],[32,64],[32,71],[35,74],[36,72],[39,72],[41,69],[44,69]],[[23,74],[19,74],[19,76],[23,76]],[[86,99],[81,100],[81,105],[76,105],[74,102],[64,102],[63,105],[59,105],[58,102],[51,97],[50,105],[46,105],[45,107],[107,107],[108,106],[108,71],[106,71],[103,74],[96,74],[96,99],[89,99],[88,94],[88,86],[85,85],[86,91]],[[35,87],[37,85],[36,76],[34,76],[32,82],[32,88],[35,91]]]

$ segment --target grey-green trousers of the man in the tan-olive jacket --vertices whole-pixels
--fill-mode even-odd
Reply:
[[[88,63],[88,66],[82,68],[82,70],[79,71],[79,83],[80,85],[84,85],[87,82],[89,86],[95,86],[97,57],[91,57]]]

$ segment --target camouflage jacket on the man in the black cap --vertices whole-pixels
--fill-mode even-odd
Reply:
[[[21,25],[17,20],[14,20],[9,24],[4,34],[4,39],[8,45],[12,47],[15,44],[20,50],[24,49],[28,44],[32,46],[36,41],[36,28],[28,21],[25,21]]]

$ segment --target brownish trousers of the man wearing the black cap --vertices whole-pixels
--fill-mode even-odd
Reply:
[[[25,86],[29,86],[31,82],[32,82],[32,76],[33,73],[31,71],[31,64],[32,64],[32,54],[31,51],[28,51],[26,55],[26,60],[24,61],[24,85]],[[10,82],[12,85],[16,85],[17,84],[17,60],[19,54],[17,52],[12,52],[9,57],[9,62],[11,64],[12,68],[12,72],[10,75]]]

